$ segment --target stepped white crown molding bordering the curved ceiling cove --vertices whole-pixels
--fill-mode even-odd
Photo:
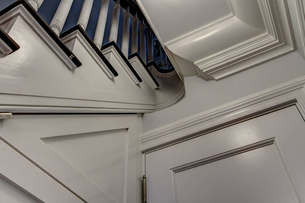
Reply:
[[[289,13],[287,5],[284,1],[284,8],[281,8],[280,4],[274,2],[274,0],[271,1],[270,4],[269,0],[261,0],[263,19],[267,28],[266,34],[262,34],[246,43],[229,48],[228,50],[207,57],[206,59],[194,62],[198,67],[197,71],[201,77],[206,80],[221,80],[242,70],[274,59],[275,57],[295,51],[294,39],[291,34],[292,28],[288,27],[289,32],[285,33],[287,30],[284,30],[285,26],[283,24],[287,23],[288,26],[289,22],[282,22],[281,16],[278,16],[287,16]],[[289,21],[287,17],[286,20]],[[247,65],[241,67],[237,66],[233,69],[230,68],[231,65],[273,49],[274,51],[272,52],[274,53],[270,53],[267,57],[257,57],[260,59],[254,60],[253,62],[248,60]],[[228,70],[226,70],[226,68],[228,68]]]

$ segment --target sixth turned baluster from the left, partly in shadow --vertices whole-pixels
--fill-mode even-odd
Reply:
[[[128,58],[129,28],[130,28],[130,13],[129,13],[129,6],[127,6],[126,12],[124,14],[122,44],[121,44],[121,51],[123,52],[126,58]]]

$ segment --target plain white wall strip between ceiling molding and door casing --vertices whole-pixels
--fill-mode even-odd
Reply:
[[[223,80],[184,77],[185,97],[178,103],[143,116],[143,132],[217,107],[305,75],[299,52],[266,62]]]

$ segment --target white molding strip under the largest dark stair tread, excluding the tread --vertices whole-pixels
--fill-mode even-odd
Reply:
[[[34,17],[27,11],[22,4],[0,16],[0,25],[7,34],[14,27],[16,19],[22,17],[28,25],[37,33],[37,35],[45,41],[45,43],[52,49],[52,51],[64,62],[68,69],[76,69],[77,66],[70,60],[70,58],[63,52],[63,50],[56,44],[50,35],[40,26]]]

